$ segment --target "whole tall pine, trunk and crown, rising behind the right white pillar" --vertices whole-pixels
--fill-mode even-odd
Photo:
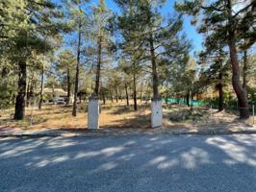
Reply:
[[[180,17],[173,16],[167,22],[161,14],[163,0],[115,0],[121,8],[117,17],[117,28],[129,51],[143,51],[144,63],[150,62],[152,70],[153,98],[160,98],[158,61],[166,55],[166,45],[182,29]],[[127,46],[126,46],[127,47]],[[126,48],[127,49],[127,48]],[[139,60],[140,61],[140,60]]]

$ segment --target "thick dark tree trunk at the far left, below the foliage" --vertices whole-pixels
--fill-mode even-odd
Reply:
[[[14,119],[22,120],[25,115],[25,96],[26,96],[26,78],[27,78],[27,65],[26,61],[19,61],[18,72],[18,92],[15,102]]]

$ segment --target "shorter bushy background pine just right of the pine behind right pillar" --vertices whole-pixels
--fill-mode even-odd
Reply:
[[[166,98],[171,92],[177,98],[186,96],[190,106],[192,78],[194,78],[195,61],[190,56],[192,45],[186,35],[172,36],[166,44],[166,54],[159,60],[160,81],[166,84]],[[190,84],[188,84],[188,82]]]

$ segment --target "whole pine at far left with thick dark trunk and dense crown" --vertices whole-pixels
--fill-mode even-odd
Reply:
[[[62,14],[56,4],[48,0],[1,1],[0,10],[3,31],[1,39],[5,39],[5,43],[10,45],[10,59],[17,64],[18,91],[13,118],[21,120],[25,113],[27,59],[33,51],[43,53],[50,50],[46,36],[58,35],[58,18]]]

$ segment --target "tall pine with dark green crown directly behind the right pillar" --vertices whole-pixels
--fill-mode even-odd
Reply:
[[[121,35],[119,47],[122,54],[131,60],[131,67],[136,63],[148,70],[148,63],[151,62],[149,67],[152,70],[153,97],[158,98],[159,85],[169,81],[169,66],[173,62],[183,60],[184,55],[188,53],[182,52],[183,46],[188,49],[188,43],[181,42],[182,18],[172,14],[172,17],[164,22],[160,10],[166,2],[163,0],[115,2],[122,13],[112,19],[115,21],[112,28]],[[177,50],[180,50],[179,54]]]

